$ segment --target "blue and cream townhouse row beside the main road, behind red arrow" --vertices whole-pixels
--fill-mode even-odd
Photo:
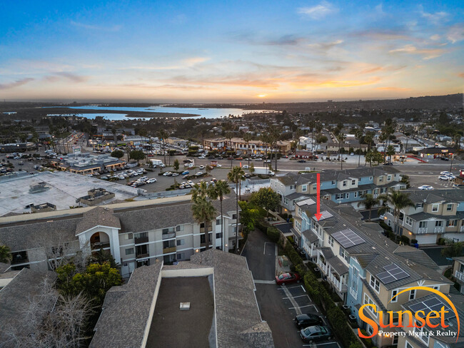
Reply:
[[[306,195],[317,194],[318,173],[288,173],[271,178],[271,188],[281,195],[282,213],[294,213],[295,203]],[[363,195],[374,197],[386,193],[389,188],[406,188],[400,183],[399,170],[389,166],[362,167],[346,170],[324,170],[320,175],[321,198],[338,204],[348,203],[356,210],[362,209]]]

